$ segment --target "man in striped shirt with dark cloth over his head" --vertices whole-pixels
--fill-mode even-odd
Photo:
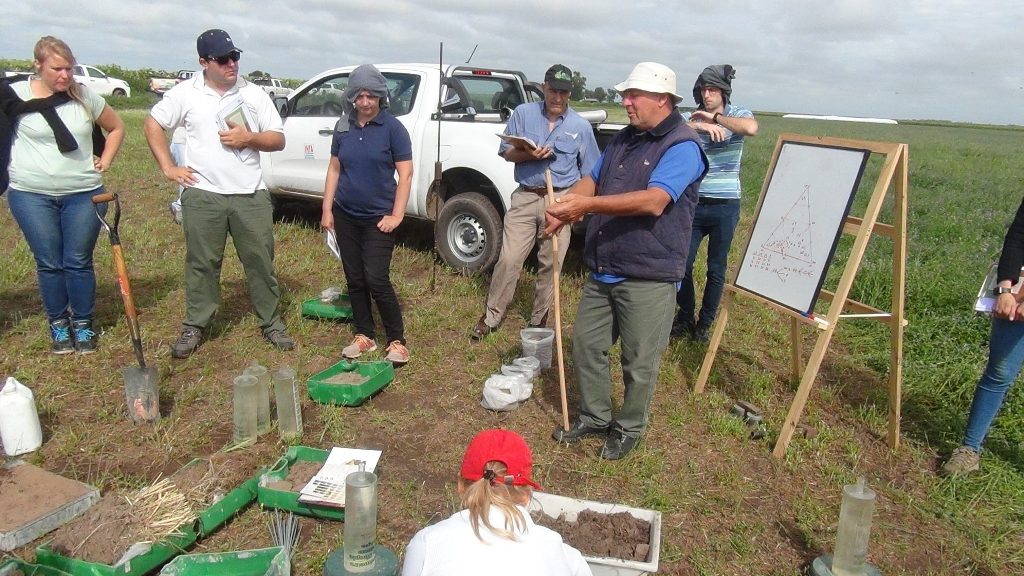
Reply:
[[[700,137],[710,168],[700,183],[686,276],[676,295],[679,314],[672,324],[672,335],[686,335],[703,342],[708,341],[725,289],[726,259],[739,221],[739,162],[743,156],[743,138],[758,133],[754,114],[729,102],[735,76],[736,71],[729,65],[703,69],[693,84],[697,109],[683,114],[683,119]],[[694,315],[693,260],[705,237],[708,238],[708,281],[700,311]]]

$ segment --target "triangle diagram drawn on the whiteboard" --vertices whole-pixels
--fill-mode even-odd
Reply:
[[[800,197],[779,218],[768,239],[754,252],[751,264],[770,272],[785,282],[797,275],[814,275],[814,225],[811,210],[811,187],[805,186]]]

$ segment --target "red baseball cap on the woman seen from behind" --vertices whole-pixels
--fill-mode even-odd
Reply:
[[[534,455],[526,441],[512,430],[489,429],[473,437],[462,458],[462,478],[476,482],[483,478],[487,462],[497,460],[508,468],[504,479],[498,483],[512,486],[532,486],[542,490],[541,485],[529,477],[534,470]]]

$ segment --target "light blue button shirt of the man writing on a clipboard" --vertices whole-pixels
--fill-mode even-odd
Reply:
[[[544,169],[549,167],[551,186],[569,188],[590,173],[600,155],[590,122],[568,107],[555,120],[554,129],[548,132],[548,116],[543,101],[519,105],[509,118],[505,133],[525,136],[538,146],[549,146],[554,151],[554,159],[515,163],[515,181],[528,188],[544,187]],[[504,155],[510,148],[512,145],[501,140],[498,154]]]

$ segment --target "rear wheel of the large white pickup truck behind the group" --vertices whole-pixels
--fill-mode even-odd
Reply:
[[[483,195],[459,194],[444,202],[434,243],[445,263],[459,272],[486,272],[502,249],[502,217]]]

